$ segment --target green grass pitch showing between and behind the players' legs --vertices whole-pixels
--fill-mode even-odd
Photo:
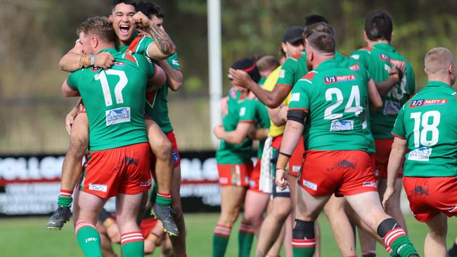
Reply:
[[[67,223],[63,230],[54,232],[44,228],[46,217],[0,218],[0,256],[83,256],[77,245],[73,228]],[[186,215],[188,256],[211,256],[212,230],[216,213]],[[322,232],[322,256],[340,256],[335,240],[324,215],[319,218]],[[238,220],[239,223],[239,220]],[[226,256],[237,256],[237,228],[234,226]],[[411,215],[406,216],[409,235],[413,244],[423,254],[423,239],[427,226],[418,223]],[[457,218],[449,219],[448,246],[457,236]],[[253,246],[253,249],[255,246]],[[118,247],[117,247],[118,249]],[[378,256],[388,256],[378,245]],[[254,255],[252,250],[252,256]],[[158,254],[154,254],[158,256]],[[284,256],[284,254],[282,254]],[[360,253],[359,253],[360,256]]]

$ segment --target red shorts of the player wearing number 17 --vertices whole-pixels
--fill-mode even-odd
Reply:
[[[102,198],[150,189],[149,145],[139,143],[89,152],[79,190]]]

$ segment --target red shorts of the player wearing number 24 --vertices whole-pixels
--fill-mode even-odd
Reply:
[[[299,184],[316,196],[378,191],[370,156],[363,151],[307,151]]]

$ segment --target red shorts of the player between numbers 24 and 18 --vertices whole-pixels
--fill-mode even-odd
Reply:
[[[390,150],[392,150],[392,143],[394,139],[376,139],[376,164],[375,164],[375,178],[387,178],[387,164],[389,163]],[[404,161],[403,161],[404,162]],[[401,164],[398,178],[403,178],[403,164]]]

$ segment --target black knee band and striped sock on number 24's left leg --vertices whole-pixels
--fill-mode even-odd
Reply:
[[[311,257],[314,255],[316,239],[314,238],[314,221],[295,220],[292,230],[292,254],[294,257]]]

